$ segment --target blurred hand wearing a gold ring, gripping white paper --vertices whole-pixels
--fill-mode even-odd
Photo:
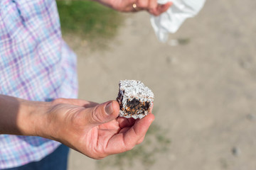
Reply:
[[[159,16],[167,11],[172,2],[157,4],[157,0],[95,0],[122,12],[148,11],[154,16]]]

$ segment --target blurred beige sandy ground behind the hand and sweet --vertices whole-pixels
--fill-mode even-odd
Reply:
[[[78,54],[79,98],[108,101],[120,79],[141,80],[155,94],[154,123],[171,139],[150,169],[256,169],[255,8],[253,0],[207,1],[165,44],[144,12],[126,15],[108,50],[68,39]],[[71,151],[69,169],[97,166]]]

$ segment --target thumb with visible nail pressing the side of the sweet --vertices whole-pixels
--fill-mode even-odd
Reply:
[[[86,120],[93,125],[101,125],[114,120],[119,115],[119,104],[117,101],[101,103],[93,108],[88,108]]]

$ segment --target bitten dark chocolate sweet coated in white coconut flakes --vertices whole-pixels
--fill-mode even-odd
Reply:
[[[154,94],[141,81],[121,80],[117,101],[120,106],[120,117],[141,119],[148,115]]]

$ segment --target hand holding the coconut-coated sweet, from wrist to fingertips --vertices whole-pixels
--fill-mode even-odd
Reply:
[[[102,159],[132,149],[144,140],[154,115],[141,120],[120,118],[119,104],[98,104],[78,99],[57,99],[50,103],[44,129],[38,135],[57,140],[82,154]]]

